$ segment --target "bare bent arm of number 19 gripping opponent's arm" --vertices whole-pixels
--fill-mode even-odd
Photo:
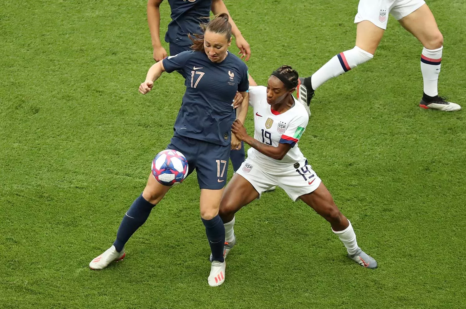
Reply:
[[[233,122],[232,132],[241,141],[244,141],[249,146],[259,151],[261,154],[267,155],[267,157],[275,160],[283,159],[283,157],[292,147],[290,144],[278,144],[277,147],[274,147],[254,139],[247,134],[246,128],[244,128],[243,124],[238,121],[238,119]]]

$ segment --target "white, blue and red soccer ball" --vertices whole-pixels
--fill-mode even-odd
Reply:
[[[179,151],[166,149],[152,160],[152,175],[164,186],[180,184],[188,174],[188,161]]]

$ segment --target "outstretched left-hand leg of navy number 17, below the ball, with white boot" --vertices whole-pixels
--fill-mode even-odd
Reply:
[[[124,245],[131,235],[144,224],[152,208],[160,202],[170,188],[161,185],[152,174],[149,175],[143,194],[133,202],[130,209],[123,216],[117,231],[117,239],[109,249],[93,259],[89,263],[89,267],[91,269],[103,269],[111,262],[123,259],[125,256]]]

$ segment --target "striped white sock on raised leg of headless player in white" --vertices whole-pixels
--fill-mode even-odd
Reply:
[[[348,72],[352,68],[371,60],[373,57],[373,54],[370,54],[357,46],[355,46],[353,49],[337,54],[320,69],[318,69],[317,72],[312,74],[312,88],[314,90],[317,89],[317,87],[332,77],[336,77],[345,72]]]

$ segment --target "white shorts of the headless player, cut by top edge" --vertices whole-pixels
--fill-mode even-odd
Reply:
[[[424,0],[359,0],[354,22],[357,24],[363,20],[369,20],[385,30],[388,13],[391,13],[396,20],[400,20],[424,4]]]

